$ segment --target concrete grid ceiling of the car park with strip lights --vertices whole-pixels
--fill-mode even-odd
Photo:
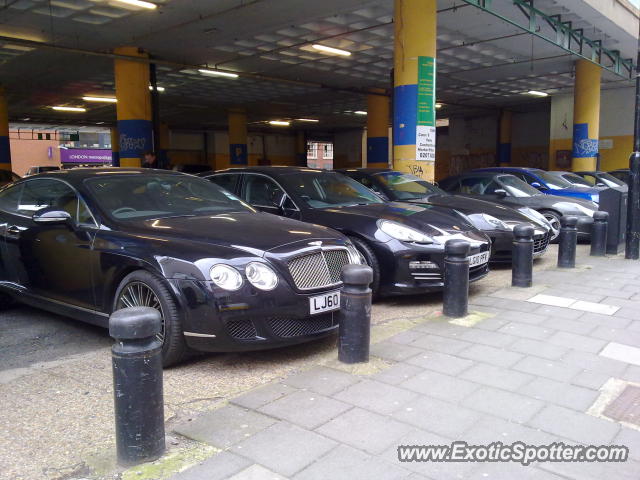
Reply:
[[[140,46],[160,61],[161,117],[181,128],[223,126],[231,106],[246,107],[252,122],[312,117],[321,120],[313,125],[318,129],[352,128],[364,124],[364,117],[353,113],[366,110],[362,92],[390,87],[391,0],[155,3],[159,8],[148,11],[115,0],[0,0],[0,83],[9,93],[11,119],[113,123],[113,105],[85,103],[84,114],[60,114],[50,106],[81,105],[87,93],[112,94],[108,53],[121,45]],[[637,41],[629,29],[598,15],[591,3],[536,0],[535,5],[635,57]],[[507,17],[521,15],[510,1],[493,4]],[[438,10],[437,94],[446,104],[441,115],[530,108],[536,100],[523,92],[571,91],[571,54],[461,0],[440,0]],[[310,43],[352,55],[323,55],[311,51]],[[250,75],[216,78],[199,73],[198,66]],[[606,71],[603,83],[604,88],[630,85]]]

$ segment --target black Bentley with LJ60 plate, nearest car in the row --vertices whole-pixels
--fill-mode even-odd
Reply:
[[[334,230],[158,170],[75,169],[16,182],[0,190],[0,234],[7,299],[100,326],[115,309],[154,307],[165,365],[189,349],[328,335],[340,270],[361,261]]]

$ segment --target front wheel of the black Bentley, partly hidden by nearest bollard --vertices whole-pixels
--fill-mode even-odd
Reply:
[[[157,302],[153,299],[147,302],[132,302],[131,297],[127,295],[127,289],[129,288],[134,289],[134,291],[137,289],[144,291],[144,288],[147,288],[155,295]],[[123,296],[126,301],[123,300]],[[141,295],[138,296],[142,297]],[[139,305],[136,305],[136,303]],[[136,270],[124,277],[116,290],[113,310],[127,306],[151,306],[156,309],[158,309],[157,306],[160,307],[163,320],[163,332],[160,340],[162,341],[162,365],[164,367],[179,363],[186,357],[188,348],[184,341],[182,323],[176,302],[165,283],[159,277],[145,270]]]

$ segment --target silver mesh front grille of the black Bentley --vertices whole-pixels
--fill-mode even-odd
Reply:
[[[348,263],[346,250],[323,250],[291,260],[289,273],[299,290],[330,287],[340,283],[340,272]]]

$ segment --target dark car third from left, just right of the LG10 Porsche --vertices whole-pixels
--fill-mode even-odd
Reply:
[[[386,200],[437,205],[464,213],[478,230],[491,238],[492,262],[511,261],[513,229],[521,223],[529,223],[535,229],[534,258],[547,251],[551,226],[541,214],[530,208],[520,207],[516,210],[506,205],[452,195],[414,175],[388,168],[351,168],[338,171]]]

